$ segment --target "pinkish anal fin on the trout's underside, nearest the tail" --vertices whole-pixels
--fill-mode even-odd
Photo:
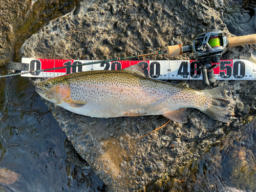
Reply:
[[[187,122],[186,108],[170,111],[165,114],[162,114],[162,116],[178,123]]]

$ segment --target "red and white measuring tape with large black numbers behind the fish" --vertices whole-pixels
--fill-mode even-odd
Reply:
[[[62,60],[23,58],[23,63],[29,63],[29,71],[50,69],[63,66],[78,65],[97,60]],[[196,71],[199,65],[196,60],[121,60],[97,63],[87,66],[70,67],[38,73],[23,74],[24,77],[57,77],[70,73],[93,70],[121,70],[139,62],[143,62],[151,78],[159,80],[202,80],[201,71]],[[256,80],[256,64],[243,59],[220,60],[220,66],[213,69],[216,80]]]

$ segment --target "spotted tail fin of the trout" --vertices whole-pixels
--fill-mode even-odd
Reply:
[[[211,90],[203,90],[211,96],[211,106],[208,109],[200,109],[210,118],[227,123],[233,110],[228,105],[230,103],[227,93],[232,89],[231,86],[221,86]]]

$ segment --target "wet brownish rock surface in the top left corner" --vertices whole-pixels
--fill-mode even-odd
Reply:
[[[19,49],[51,19],[72,11],[81,0],[0,0],[0,66],[18,61]]]

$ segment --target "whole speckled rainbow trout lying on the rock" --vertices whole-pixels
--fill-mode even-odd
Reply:
[[[196,108],[212,119],[229,121],[230,87],[197,91],[146,78],[142,67],[63,75],[38,83],[36,91],[66,110],[90,117],[163,115],[184,123],[186,108]]]

